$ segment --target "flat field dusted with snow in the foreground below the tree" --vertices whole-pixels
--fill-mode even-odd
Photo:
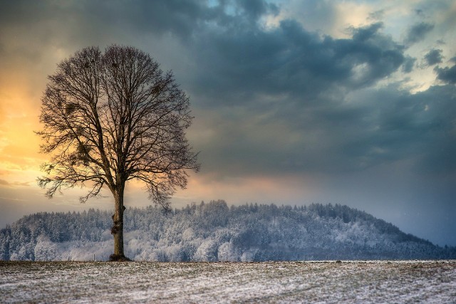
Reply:
[[[455,303],[456,261],[0,261],[1,303]]]

